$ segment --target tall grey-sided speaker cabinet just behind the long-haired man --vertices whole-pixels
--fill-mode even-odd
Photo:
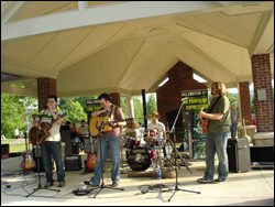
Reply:
[[[248,172],[251,170],[250,143],[248,139],[228,140],[229,172]]]

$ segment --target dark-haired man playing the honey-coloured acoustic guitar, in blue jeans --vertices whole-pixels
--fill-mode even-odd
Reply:
[[[92,187],[98,187],[101,181],[101,173],[105,170],[105,161],[107,159],[108,149],[110,149],[111,159],[112,159],[112,187],[117,187],[120,182],[120,131],[121,127],[125,126],[124,115],[120,107],[114,106],[111,102],[111,97],[108,94],[101,94],[98,97],[101,109],[91,113],[91,119],[97,117],[105,117],[105,121],[101,122],[101,129],[105,124],[110,127],[109,131],[101,130],[101,134],[98,134],[98,154],[97,154],[97,164],[95,167],[95,176],[89,181],[85,181],[86,185],[91,185]],[[113,122],[112,122],[113,121]],[[100,129],[99,129],[100,131]],[[100,148],[101,144],[101,148]],[[100,154],[102,153],[102,154]],[[101,162],[102,159],[102,162]]]

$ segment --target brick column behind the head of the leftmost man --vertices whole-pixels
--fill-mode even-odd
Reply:
[[[37,78],[38,110],[45,108],[48,95],[56,95],[56,79]]]

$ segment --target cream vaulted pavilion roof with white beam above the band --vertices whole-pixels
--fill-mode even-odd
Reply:
[[[177,62],[237,87],[273,41],[273,1],[1,1],[1,72],[19,76],[1,91],[51,77],[59,97],[152,92]]]

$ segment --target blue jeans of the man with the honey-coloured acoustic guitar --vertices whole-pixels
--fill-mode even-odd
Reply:
[[[100,148],[102,152],[102,162]],[[97,164],[95,167],[95,176],[91,177],[91,182],[96,185],[100,185],[101,172],[105,170],[105,162],[108,155],[108,149],[110,149],[111,159],[112,159],[112,182],[120,181],[120,138],[118,137],[101,137],[98,140],[98,154],[97,154]]]

